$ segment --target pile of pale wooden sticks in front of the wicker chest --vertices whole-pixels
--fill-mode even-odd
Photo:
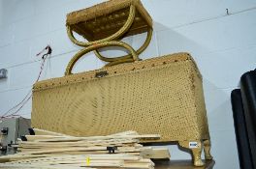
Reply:
[[[168,149],[139,144],[157,134],[126,131],[108,136],[74,137],[34,128],[35,135],[18,141],[16,155],[0,156],[0,168],[141,168],[152,169],[150,158],[169,158]]]

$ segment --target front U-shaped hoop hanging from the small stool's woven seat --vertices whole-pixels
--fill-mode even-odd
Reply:
[[[129,14],[125,24],[121,27],[121,29],[119,29],[116,33],[114,33],[112,36],[110,36],[108,38],[97,40],[97,41],[94,41],[94,42],[80,42],[80,41],[76,40],[76,38],[73,35],[71,27],[69,25],[67,25],[68,37],[72,42],[74,42],[75,44],[78,44],[80,46],[83,46],[83,47],[91,45],[91,44],[100,43],[100,42],[107,42],[107,41],[117,40],[123,34],[125,34],[130,29],[130,27],[132,26],[134,18],[135,18],[135,13],[136,13],[136,8],[135,8],[134,5],[131,5],[130,14]]]

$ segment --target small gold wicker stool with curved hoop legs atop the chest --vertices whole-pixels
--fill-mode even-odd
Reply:
[[[119,63],[138,61],[138,55],[148,46],[152,37],[152,19],[144,10],[140,0],[111,0],[93,7],[73,12],[67,15],[67,33],[70,40],[80,46],[95,48],[96,56],[110,62],[107,66]],[[80,34],[89,42],[79,42],[75,39],[73,31]],[[137,50],[125,42],[117,41],[124,37],[147,32],[144,44]],[[97,48],[99,46],[122,46],[132,50],[132,54],[117,58],[107,58],[102,56]],[[80,51],[74,57],[74,62],[70,62],[70,67],[74,66],[75,60],[80,58],[84,51]],[[76,58],[76,59],[75,59]],[[66,74],[69,73],[66,71]]]

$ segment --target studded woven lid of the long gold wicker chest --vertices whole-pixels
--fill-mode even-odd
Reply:
[[[190,62],[193,65],[194,70],[197,72],[199,78],[201,73],[197,68],[194,59],[189,53],[181,52],[170,54],[162,57],[156,57],[151,59],[146,59],[144,61],[139,61],[135,63],[120,64],[112,67],[105,67],[99,70],[90,70],[86,72],[80,72],[72,75],[67,75],[65,77],[52,78],[50,80],[39,81],[34,84],[33,91],[41,91],[57,86],[65,86],[71,83],[79,83],[88,80],[98,80],[95,74],[100,71],[107,70],[109,72],[108,77],[121,75],[125,73],[136,73],[137,71],[148,70],[148,69],[161,69],[164,66],[173,66],[174,64],[182,64],[184,62]]]

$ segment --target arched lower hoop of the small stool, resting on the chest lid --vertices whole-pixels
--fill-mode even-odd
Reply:
[[[70,75],[72,74],[72,70],[76,64],[76,62],[78,60],[80,60],[80,58],[92,51],[92,50],[96,50],[102,47],[108,47],[108,46],[120,46],[120,47],[124,47],[126,48],[128,51],[131,52],[132,58],[127,58],[127,59],[120,59],[120,60],[114,60],[112,63],[108,64],[107,66],[112,66],[112,65],[117,65],[117,64],[121,64],[121,63],[126,63],[126,62],[133,62],[133,61],[139,61],[138,55],[136,53],[136,51],[127,43],[125,42],[117,42],[117,41],[111,41],[111,42],[100,42],[97,44],[93,44],[90,45],[84,49],[81,49],[79,53],[77,53],[69,62],[66,71],[65,71],[65,75]]]

